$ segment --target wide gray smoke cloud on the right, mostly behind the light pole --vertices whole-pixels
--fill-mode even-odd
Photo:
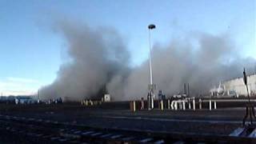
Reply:
[[[226,35],[198,34],[194,38],[173,40],[168,46],[154,46],[153,75],[158,90],[166,95],[183,92],[190,84],[190,94],[209,94],[210,88],[229,78],[242,76],[243,67],[252,72],[256,61],[240,58]],[[124,95],[127,98],[146,98],[149,77],[148,62],[133,70],[127,79]]]

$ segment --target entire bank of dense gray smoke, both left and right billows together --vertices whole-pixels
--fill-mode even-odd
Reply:
[[[110,28],[93,29],[72,22],[58,22],[70,57],[58,78],[43,88],[43,98],[101,98],[110,93],[116,101],[146,98],[149,62],[130,68],[122,38]],[[190,83],[191,94],[207,94],[228,78],[242,76],[244,66],[254,69],[254,58],[240,58],[228,35],[195,34],[153,46],[154,83],[166,95],[182,91]],[[250,71],[252,71],[250,70]]]

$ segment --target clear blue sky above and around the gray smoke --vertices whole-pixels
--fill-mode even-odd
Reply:
[[[0,93],[30,94],[56,78],[64,40],[50,29],[56,15],[90,26],[114,27],[126,39],[131,66],[148,57],[153,43],[190,31],[231,35],[244,56],[256,58],[256,0],[0,0]]]

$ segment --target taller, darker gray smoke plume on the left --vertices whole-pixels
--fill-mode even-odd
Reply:
[[[41,90],[43,98],[102,97],[112,79],[129,72],[129,54],[115,30],[92,29],[66,21],[58,22],[54,28],[66,39],[70,61],[60,67],[54,83]]]

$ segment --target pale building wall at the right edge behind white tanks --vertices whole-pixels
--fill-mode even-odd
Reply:
[[[256,74],[247,76],[247,84],[249,94],[256,94]],[[223,82],[222,85],[225,90],[234,90],[239,95],[247,95],[246,86],[243,82],[243,78],[235,78],[229,81]]]

